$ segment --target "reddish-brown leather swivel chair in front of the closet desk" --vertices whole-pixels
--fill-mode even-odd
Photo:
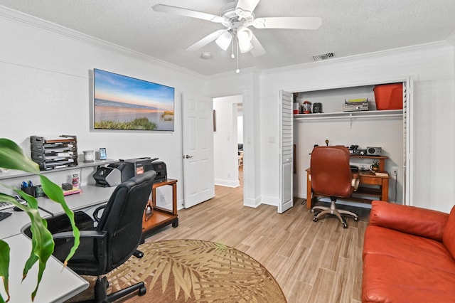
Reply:
[[[358,220],[357,214],[338,209],[335,204],[336,198],[348,198],[358,188],[358,174],[353,174],[350,170],[349,156],[348,149],[341,146],[315,147],[311,151],[309,176],[311,188],[316,195],[328,196],[331,199],[330,207],[314,206],[311,208],[312,213],[321,211],[314,215],[314,222],[321,216],[330,214],[338,217],[343,223],[343,228],[348,228],[348,223],[341,216],[342,214],[353,216],[354,220]]]

